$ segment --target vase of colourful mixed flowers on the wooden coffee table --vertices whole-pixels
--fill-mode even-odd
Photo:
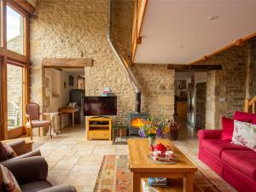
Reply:
[[[140,126],[139,136],[148,137],[149,145],[156,144],[157,137],[170,133],[170,120],[165,119],[163,113],[160,116],[149,115],[143,120],[143,125]]]

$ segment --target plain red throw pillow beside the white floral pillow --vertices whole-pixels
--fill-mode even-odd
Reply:
[[[231,142],[234,131],[234,119],[222,117],[222,133],[220,140],[224,142]]]

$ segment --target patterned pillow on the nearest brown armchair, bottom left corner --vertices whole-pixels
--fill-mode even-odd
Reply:
[[[3,165],[0,165],[0,174],[2,178],[3,191],[7,192],[21,192],[20,186],[15,179],[15,176],[9,169]]]

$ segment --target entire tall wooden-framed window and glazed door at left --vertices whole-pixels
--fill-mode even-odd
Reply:
[[[26,134],[29,15],[26,1],[0,0],[0,139]]]

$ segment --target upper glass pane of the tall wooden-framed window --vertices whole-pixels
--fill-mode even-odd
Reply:
[[[6,9],[7,49],[24,54],[24,17],[7,5]]]

